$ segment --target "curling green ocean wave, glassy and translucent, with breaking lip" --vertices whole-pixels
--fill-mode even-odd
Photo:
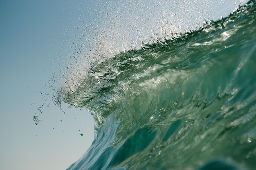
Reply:
[[[67,170],[256,169],[256,1],[91,62],[56,102],[95,137]]]

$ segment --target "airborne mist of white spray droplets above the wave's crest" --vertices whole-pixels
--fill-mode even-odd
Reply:
[[[72,53],[62,71],[65,84],[74,91],[80,85],[81,79],[87,76],[87,70],[95,64],[119,53],[147,49],[149,44],[164,44],[166,40],[175,40],[181,35],[200,30],[210,25],[213,20],[229,15],[245,2],[91,2],[84,7],[84,12],[74,22],[75,29],[67,36],[71,39],[70,48],[67,50],[71,49]]]

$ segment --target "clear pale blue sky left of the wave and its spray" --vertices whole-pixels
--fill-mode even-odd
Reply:
[[[64,114],[46,95],[53,81],[61,86],[54,75],[68,64],[76,21],[90,3],[0,1],[0,170],[65,170],[91,145],[92,116],[67,104]],[[37,126],[34,115],[43,120]]]

